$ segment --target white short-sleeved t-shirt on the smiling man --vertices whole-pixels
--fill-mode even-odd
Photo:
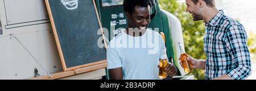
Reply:
[[[146,30],[142,36],[121,32],[107,48],[108,69],[122,67],[124,80],[158,80],[159,59],[165,44],[162,36]]]

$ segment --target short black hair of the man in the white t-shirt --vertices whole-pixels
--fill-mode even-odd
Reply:
[[[151,0],[123,0],[123,11],[133,14],[133,10],[137,5],[141,7],[148,7],[149,5],[151,7],[152,2]]]

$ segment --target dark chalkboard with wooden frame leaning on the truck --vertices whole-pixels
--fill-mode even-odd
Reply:
[[[98,41],[101,25],[94,5],[92,0],[46,0],[64,71],[106,60],[104,42]]]

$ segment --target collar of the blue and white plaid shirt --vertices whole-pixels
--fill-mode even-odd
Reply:
[[[224,15],[224,10],[218,10],[218,14],[215,15],[212,20],[209,21],[209,23],[204,22],[205,26],[216,26],[218,24],[218,21],[220,20],[221,16]]]

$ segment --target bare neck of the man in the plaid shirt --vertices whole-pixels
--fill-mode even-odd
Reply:
[[[209,23],[210,20],[214,18],[218,14],[218,9],[216,7],[207,7],[205,11],[203,11],[203,19],[205,22]]]

